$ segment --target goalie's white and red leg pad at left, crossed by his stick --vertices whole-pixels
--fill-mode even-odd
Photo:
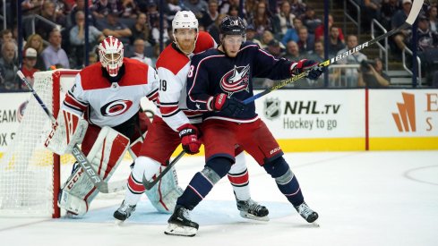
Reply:
[[[129,140],[124,135],[105,126],[99,132],[98,139],[87,158],[99,176],[104,181],[108,181],[125,156],[128,146]],[[58,205],[60,208],[81,216],[87,212],[88,205],[98,195],[98,192],[88,176],[83,174],[82,168],[79,167],[73,171],[61,191],[61,198],[67,194],[69,199],[61,199]],[[78,199],[82,199],[86,206],[77,202]]]

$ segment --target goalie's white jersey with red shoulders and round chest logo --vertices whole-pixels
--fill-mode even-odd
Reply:
[[[137,114],[140,100],[158,98],[157,72],[141,62],[124,58],[125,75],[111,83],[102,75],[100,63],[84,68],[76,75],[72,89],[67,92],[62,108],[85,115],[90,123],[114,127]]]

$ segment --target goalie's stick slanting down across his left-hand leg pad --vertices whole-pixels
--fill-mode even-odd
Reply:
[[[33,97],[37,99],[39,106],[41,106],[44,109],[44,112],[46,112],[47,116],[50,118],[50,121],[52,123],[56,123],[55,117],[50,113],[47,106],[44,104],[44,102],[39,98],[37,91],[33,89],[33,87],[30,85],[30,82],[24,77],[24,74],[19,70],[17,71],[18,76],[20,77],[21,81],[23,81],[26,86],[30,89],[30,92],[32,92]],[[87,157],[82,153],[81,149],[75,144],[73,146],[72,151],[73,157],[76,159],[79,165],[81,165],[84,173],[90,178],[90,181],[93,183],[93,185],[102,193],[109,193],[108,184],[107,182],[103,181],[99,174],[94,170],[94,168],[90,165],[90,162],[88,161]]]

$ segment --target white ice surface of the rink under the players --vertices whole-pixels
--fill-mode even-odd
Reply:
[[[0,218],[0,245],[438,245],[438,151],[293,153],[286,158],[307,204],[320,215],[309,225],[275,182],[248,157],[253,199],[270,208],[271,221],[239,216],[228,179],[192,212],[200,224],[191,237],[163,232],[169,215],[143,197],[136,212],[115,225],[124,193],[99,195],[77,219]],[[202,169],[202,157],[176,164],[183,188]],[[129,168],[113,181],[125,179]]]

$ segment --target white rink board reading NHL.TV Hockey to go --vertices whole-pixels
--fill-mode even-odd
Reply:
[[[365,149],[364,89],[276,90],[255,107],[284,151]]]

